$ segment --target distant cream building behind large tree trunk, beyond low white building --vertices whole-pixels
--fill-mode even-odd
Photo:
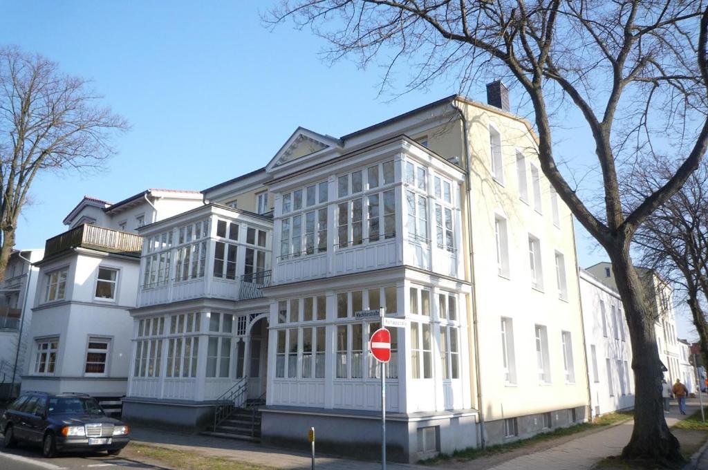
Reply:
[[[612,263],[602,262],[587,269],[603,284],[617,289],[615,273],[612,273]],[[673,309],[673,289],[656,271],[636,267],[641,282],[644,285],[646,298],[654,318],[656,348],[661,363],[666,368],[666,382],[673,383],[676,378],[682,378],[679,365],[679,343],[676,337],[676,317]]]

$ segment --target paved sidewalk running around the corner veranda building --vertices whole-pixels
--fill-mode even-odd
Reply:
[[[704,404],[705,400],[704,400]],[[687,415],[678,413],[675,401],[671,413],[666,415],[669,426],[685,419],[700,408],[697,399],[687,401]],[[632,435],[632,421],[611,426],[581,435],[576,439],[563,440],[559,445],[552,446],[547,442],[543,449],[534,447],[518,449],[506,455],[497,454],[489,458],[474,459],[467,462],[441,462],[435,466],[419,466],[411,464],[393,464],[392,470],[414,469],[475,469],[475,470],[590,470],[601,459],[610,455],[619,455],[622,447],[629,442]],[[134,428],[133,440],[139,444],[157,445],[183,452],[197,452],[209,457],[223,457],[238,462],[262,465],[275,469],[309,469],[308,452],[296,452],[280,447],[268,447],[238,440],[218,439],[201,435],[185,435],[176,432],[165,432],[146,428]],[[551,447],[549,447],[549,445]],[[525,453],[527,452],[527,453]],[[364,470],[380,466],[379,462],[358,461],[321,455],[316,458],[316,468],[332,470]],[[698,460],[697,469],[708,470],[708,452],[704,452]]]

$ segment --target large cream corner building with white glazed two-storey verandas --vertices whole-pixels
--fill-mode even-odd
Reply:
[[[384,307],[406,320],[386,372],[396,458],[586,420],[572,217],[490,90],[340,138],[298,128],[204,207],[140,229],[124,415],[199,426],[264,399],[263,440],[314,425],[377,452],[378,319],[360,314]],[[239,428],[228,411],[219,432]]]

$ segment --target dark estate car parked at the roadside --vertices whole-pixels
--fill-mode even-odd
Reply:
[[[130,442],[128,426],[106,416],[96,400],[84,394],[26,392],[0,416],[0,430],[5,447],[39,444],[45,457],[62,450],[117,455]]]

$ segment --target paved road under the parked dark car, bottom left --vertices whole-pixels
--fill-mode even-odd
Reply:
[[[160,467],[142,464],[120,457],[108,457],[105,453],[59,454],[54,459],[42,457],[39,447],[20,445],[15,449],[5,449],[0,441],[1,470],[115,470],[142,469],[159,470]]]

